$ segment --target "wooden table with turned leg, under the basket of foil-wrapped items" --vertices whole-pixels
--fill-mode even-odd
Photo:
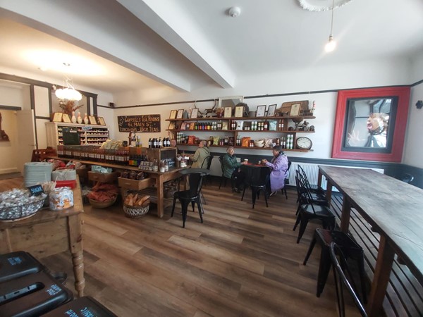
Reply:
[[[84,295],[84,257],[82,250],[81,189],[77,180],[73,189],[74,205],[63,211],[40,210],[23,220],[0,222],[0,254],[27,251],[42,259],[52,254],[71,251],[75,290]]]

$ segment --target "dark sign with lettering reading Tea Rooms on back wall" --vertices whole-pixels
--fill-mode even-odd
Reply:
[[[160,132],[160,115],[118,116],[119,132]]]

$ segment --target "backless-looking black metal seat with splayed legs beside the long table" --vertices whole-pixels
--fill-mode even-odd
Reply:
[[[345,232],[342,231],[331,231],[317,228],[314,231],[314,237],[310,243],[307,255],[305,256],[303,264],[306,265],[309,256],[312,254],[316,242],[319,242],[321,246],[320,251],[320,263],[319,263],[319,275],[317,278],[317,292],[316,296],[320,297],[323,292],[324,285],[331,269],[331,256],[329,255],[330,246],[332,242],[338,244],[343,251],[343,254],[347,259],[353,259],[357,262],[358,272],[360,275],[360,284],[362,287],[362,299],[364,303],[367,302],[366,285],[364,278],[364,251],[357,242]]]

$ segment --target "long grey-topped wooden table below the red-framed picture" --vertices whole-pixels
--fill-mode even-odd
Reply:
[[[381,316],[394,255],[423,283],[423,189],[374,170],[319,166],[319,185],[324,175],[331,187],[343,194],[341,230],[348,231],[350,209],[380,234],[380,244],[367,313]]]

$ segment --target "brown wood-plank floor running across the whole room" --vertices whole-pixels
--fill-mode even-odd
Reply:
[[[173,218],[166,208],[162,219],[154,211],[125,218],[119,204],[85,205],[85,294],[118,316],[338,316],[331,275],[315,295],[318,247],[302,265],[318,224],[295,243],[296,193],[288,189],[288,200],[276,194],[269,208],[261,197],[252,209],[250,192],[240,201],[217,187],[203,187],[204,223],[189,212],[185,229],[179,204]],[[66,271],[73,290],[69,254],[42,262]],[[347,316],[358,316],[349,305]]]

